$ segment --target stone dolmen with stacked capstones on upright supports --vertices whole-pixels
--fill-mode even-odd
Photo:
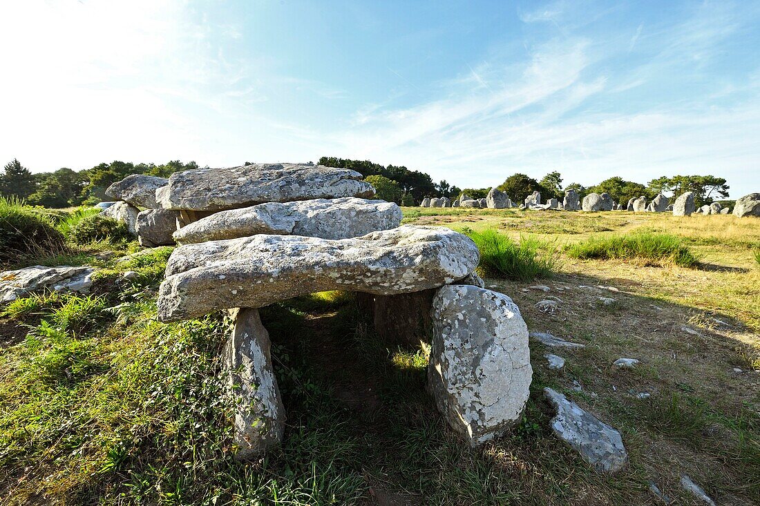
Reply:
[[[287,416],[259,308],[325,290],[356,293],[378,339],[386,328],[412,334],[425,327],[428,390],[467,444],[518,422],[532,376],[527,327],[508,296],[483,288],[474,273],[480,253],[467,236],[400,226],[397,205],[371,200],[374,188],[353,171],[283,166],[280,185],[258,167],[179,172],[157,191],[170,210],[195,213],[173,233],[179,246],[166,264],[158,319],[226,313],[222,362],[239,459],[279,444]]]

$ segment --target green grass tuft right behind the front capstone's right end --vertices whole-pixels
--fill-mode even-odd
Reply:
[[[484,277],[530,281],[550,277],[556,269],[553,248],[538,239],[521,237],[518,243],[494,229],[464,233],[480,250],[478,270]]]

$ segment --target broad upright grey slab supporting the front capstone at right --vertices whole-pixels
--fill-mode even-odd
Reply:
[[[443,286],[432,333],[428,387],[451,428],[475,447],[518,422],[533,369],[517,305],[477,286]]]

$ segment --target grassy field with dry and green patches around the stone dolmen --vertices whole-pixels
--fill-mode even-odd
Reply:
[[[688,474],[718,504],[760,503],[760,220],[419,207],[404,217],[538,239],[554,259],[551,277],[486,279],[530,330],[586,345],[530,343],[530,401],[505,438],[463,447],[426,394],[426,347],[388,349],[349,294],[322,293],[262,316],[286,441],[238,463],[216,360],[220,316],[157,323],[170,248],[119,262],[133,244],[97,242],[67,254],[102,267],[92,296],[22,299],[0,319],[0,501],[663,504],[654,483],[673,504],[696,504],[679,485]],[[569,254],[641,232],[676,236],[698,262]],[[116,255],[97,256],[106,249]],[[139,277],[123,280],[125,270]],[[556,311],[540,311],[543,299]],[[549,369],[545,353],[565,367]],[[621,357],[641,362],[613,368]],[[625,470],[594,473],[551,433],[546,386],[619,429]]]

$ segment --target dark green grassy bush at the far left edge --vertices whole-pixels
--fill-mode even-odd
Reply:
[[[64,242],[49,217],[23,201],[0,197],[0,262],[14,263],[41,251],[62,251]]]

